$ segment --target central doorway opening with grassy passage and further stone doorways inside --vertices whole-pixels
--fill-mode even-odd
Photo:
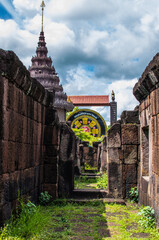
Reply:
[[[88,142],[79,145],[79,161],[74,172],[74,190],[85,190],[90,193],[106,190],[107,174],[106,171],[101,170],[101,146],[100,142],[93,143],[92,147]]]

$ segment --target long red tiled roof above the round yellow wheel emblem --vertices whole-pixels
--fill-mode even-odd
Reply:
[[[75,106],[109,106],[108,95],[68,96],[67,99]]]

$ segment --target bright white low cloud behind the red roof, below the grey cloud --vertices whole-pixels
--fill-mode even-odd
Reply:
[[[114,90],[119,118],[122,111],[133,110],[138,105],[132,93],[136,82],[135,78],[107,83],[104,79],[97,79],[94,73],[79,66],[67,73],[67,83],[64,84],[64,90],[68,95],[109,95],[109,101],[111,101],[111,92]],[[99,111],[109,123],[110,110],[108,107],[92,107],[92,109]]]

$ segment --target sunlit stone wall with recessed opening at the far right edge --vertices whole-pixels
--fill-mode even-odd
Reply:
[[[159,217],[159,54],[149,63],[133,93],[140,102],[141,167],[139,202]]]

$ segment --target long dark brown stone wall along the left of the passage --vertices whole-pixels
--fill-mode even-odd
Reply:
[[[63,188],[72,189],[74,134],[58,123],[53,100],[13,52],[0,50],[0,223],[16,207],[18,191],[34,202],[42,191],[56,198],[59,174]]]

